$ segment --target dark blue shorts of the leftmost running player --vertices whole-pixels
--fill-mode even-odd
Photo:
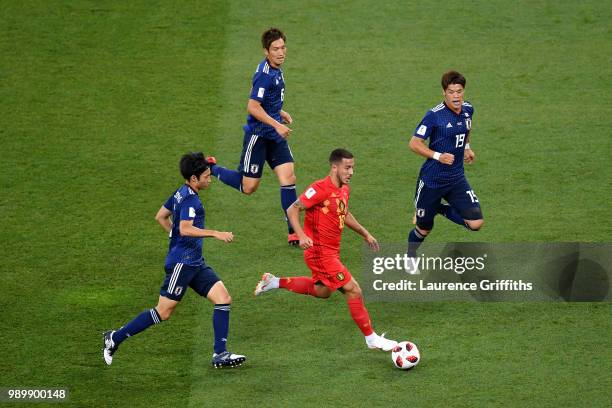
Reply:
[[[168,299],[179,301],[185,295],[187,287],[206,297],[213,285],[221,279],[213,268],[206,264],[189,266],[182,263],[166,265],[166,279],[159,294]]]

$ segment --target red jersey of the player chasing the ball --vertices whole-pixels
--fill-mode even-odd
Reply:
[[[340,238],[348,214],[348,185],[336,187],[327,176],[317,180],[300,196],[306,207],[304,232],[312,238],[309,255],[325,256],[340,253]]]

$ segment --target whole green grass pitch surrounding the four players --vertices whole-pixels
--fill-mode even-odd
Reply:
[[[407,142],[451,68],[476,108],[467,173],[486,225],[439,221],[429,240],[610,241],[610,3],[241,3],[0,2],[0,386],[67,387],[75,407],[609,406],[609,303],[366,299],[378,331],[421,349],[401,372],[366,350],[341,296],[255,299],[263,271],[308,273],[269,169],[254,196],[218,182],[201,195],[207,225],[236,236],[205,256],[248,363],[209,367],[212,308],[190,292],[103,364],[100,333],[157,301],[167,242],[153,216],[179,156],[238,164],[271,25],[288,36],[298,189],[349,148],[351,211],[381,242],[405,240],[421,165]],[[359,277],[360,240],[343,242]]]

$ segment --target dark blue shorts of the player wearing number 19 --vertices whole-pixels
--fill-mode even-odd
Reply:
[[[423,180],[417,180],[414,194],[417,225],[433,225],[438,207],[445,199],[465,220],[482,218],[480,202],[465,177],[458,182],[441,188],[430,188]]]

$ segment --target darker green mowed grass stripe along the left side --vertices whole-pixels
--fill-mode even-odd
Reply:
[[[189,303],[121,364],[100,358],[103,329],[156,303],[167,243],[153,215],[215,122],[223,5],[160,5],[3,6],[5,379],[68,386],[76,406],[168,405],[189,390],[167,362],[181,349],[188,361]]]

